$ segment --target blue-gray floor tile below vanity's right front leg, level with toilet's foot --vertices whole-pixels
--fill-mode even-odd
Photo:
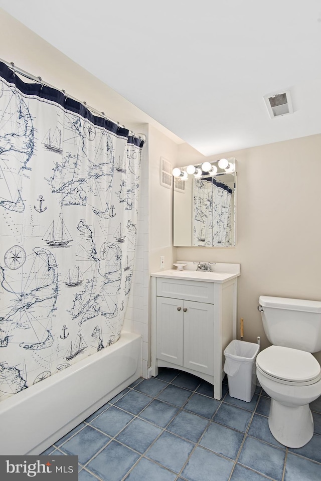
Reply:
[[[235,460],[243,438],[243,433],[212,421],[200,445]]]

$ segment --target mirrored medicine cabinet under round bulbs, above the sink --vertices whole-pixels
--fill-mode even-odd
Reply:
[[[217,168],[215,174],[209,175],[198,164],[196,174],[187,175],[191,166],[181,167],[180,177],[174,177],[174,246],[235,246],[236,160],[227,160],[227,169],[211,163],[213,171]]]

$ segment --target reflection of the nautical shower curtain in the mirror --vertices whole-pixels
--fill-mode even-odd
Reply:
[[[193,180],[193,246],[229,247],[232,189],[214,178]]]

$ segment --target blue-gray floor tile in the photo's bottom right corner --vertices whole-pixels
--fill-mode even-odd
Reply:
[[[321,464],[309,461],[294,454],[287,455],[284,481],[320,481]]]

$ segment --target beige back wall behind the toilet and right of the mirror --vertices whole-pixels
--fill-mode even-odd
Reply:
[[[238,319],[245,341],[261,336],[264,348],[260,294],[321,300],[321,134],[210,158],[222,156],[237,159],[236,247],[178,248],[177,258],[241,264]],[[179,159],[202,156],[185,144]]]

